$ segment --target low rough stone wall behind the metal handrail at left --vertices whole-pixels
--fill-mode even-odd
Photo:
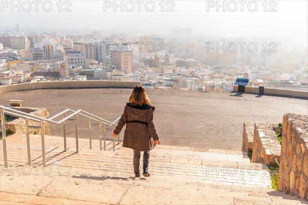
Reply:
[[[26,112],[39,117],[49,118],[49,111],[47,108],[19,108],[19,107],[9,107],[21,112]],[[29,120],[29,126],[41,126],[40,122]],[[26,120],[23,118],[18,118],[13,121],[6,123],[6,128],[11,130],[13,133],[26,134]],[[50,134],[49,122],[44,124],[45,134]],[[30,134],[41,134],[41,128],[29,129]]]

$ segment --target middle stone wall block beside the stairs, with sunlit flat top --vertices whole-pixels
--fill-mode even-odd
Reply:
[[[273,164],[280,160],[281,146],[274,128],[277,124],[255,122],[252,162]]]

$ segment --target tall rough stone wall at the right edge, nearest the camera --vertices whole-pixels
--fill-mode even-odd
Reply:
[[[278,190],[308,199],[308,116],[285,114]]]

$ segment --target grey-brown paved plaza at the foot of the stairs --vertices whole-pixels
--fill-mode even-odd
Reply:
[[[53,116],[67,108],[85,110],[107,120],[122,115],[131,89],[53,89],[4,93],[1,105],[10,99],[24,100],[24,107],[44,107]],[[224,150],[241,150],[244,121],[282,122],[285,113],[308,114],[308,101],[252,94],[147,90],[156,107],[154,122],[163,145]],[[67,122],[74,136],[73,122]],[[80,137],[86,138],[88,122],[80,117]],[[59,126],[52,135],[60,136]],[[92,137],[98,139],[98,128]],[[111,136],[111,132],[109,132]]]

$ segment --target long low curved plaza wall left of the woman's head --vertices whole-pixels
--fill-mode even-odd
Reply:
[[[47,93],[51,89],[59,89],[65,92],[74,88],[134,88],[141,85],[139,81],[115,81],[115,80],[78,80],[78,81],[45,81],[37,83],[23,83],[0,86],[0,94],[27,90],[43,89]]]

